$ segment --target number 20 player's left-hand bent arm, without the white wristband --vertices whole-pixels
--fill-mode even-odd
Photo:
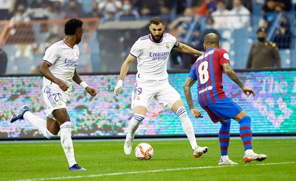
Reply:
[[[43,75],[48,80],[56,83],[63,91],[66,91],[69,86],[51,73],[49,70],[50,66],[51,65],[49,63],[43,61],[42,65],[40,66],[39,73],[41,73],[41,75]]]

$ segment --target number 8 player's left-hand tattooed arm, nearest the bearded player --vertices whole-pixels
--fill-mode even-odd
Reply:
[[[185,81],[185,84],[183,86],[184,94],[187,100],[187,104],[189,106],[190,112],[194,118],[202,118],[200,111],[194,108],[193,101],[192,101],[192,95],[191,95],[191,86],[195,83],[195,79],[188,77]]]

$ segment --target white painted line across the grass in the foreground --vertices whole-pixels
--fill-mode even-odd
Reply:
[[[256,165],[245,165],[245,166],[283,165],[283,164],[293,164],[293,163],[296,163],[296,162],[267,163],[267,164],[256,164]],[[95,174],[95,175],[84,175],[84,176],[54,177],[54,178],[25,179],[25,180],[11,180],[11,181],[53,181],[53,180],[63,180],[63,179],[81,179],[81,178],[94,178],[94,177],[104,177],[104,176],[129,175],[129,174],[170,172],[170,171],[179,171],[179,170],[212,169],[212,168],[221,168],[221,167],[236,167],[236,166],[224,165],[224,166],[187,167],[187,168],[175,168],[175,169],[159,169],[159,170],[148,170],[148,171],[137,171],[137,172],[118,172],[118,173],[110,173],[110,174]]]

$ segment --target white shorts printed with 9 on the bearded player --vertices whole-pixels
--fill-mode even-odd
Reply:
[[[137,81],[132,93],[132,109],[144,106],[148,110],[152,98],[165,110],[170,110],[181,96],[169,85],[168,80]]]

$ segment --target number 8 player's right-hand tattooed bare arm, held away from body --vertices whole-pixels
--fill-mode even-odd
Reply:
[[[222,67],[224,69],[224,72],[228,75],[228,77],[233,80],[238,86],[240,86],[240,88],[243,90],[244,94],[249,97],[251,94],[253,96],[256,96],[256,93],[253,89],[246,87],[241,80],[239,79],[239,77],[237,76],[237,74],[235,73],[235,71],[231,68],[231,65],[229,63],[223,63]]]

